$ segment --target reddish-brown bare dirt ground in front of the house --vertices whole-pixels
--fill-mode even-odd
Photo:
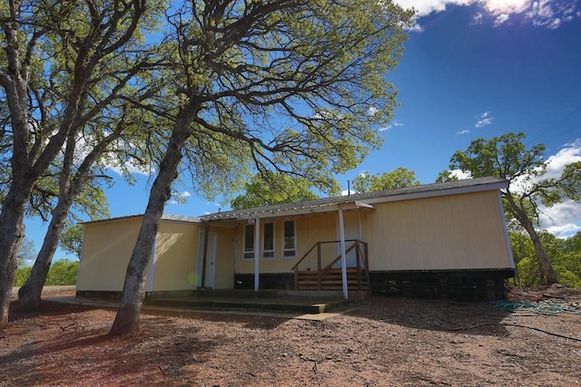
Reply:
[[[114,311],[45,302],[0,331],[0,385],[581,385],[581,292],[507,298],[530,304],[373,296],[320,322],[143,314],[121,338],[107,335]]]

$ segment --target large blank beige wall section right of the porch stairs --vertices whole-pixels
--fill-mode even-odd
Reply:
[[[363,220],[371,271],[511,267],[496,190],[374,207]]]

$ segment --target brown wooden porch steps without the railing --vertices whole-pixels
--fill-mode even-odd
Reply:
[[[369,278],[365,270],[355,267],[347,269],[347,285],[350,290],[370,290]],[[297,290],[341,290],[343,288],[341,269],[327,270],[322,276],[315,270],[297,272]]]

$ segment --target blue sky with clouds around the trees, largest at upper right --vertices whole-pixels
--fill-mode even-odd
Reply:
[[[381,135],[383,147],[349,173],[414,170],[421,183],[448,169],[456,150],[471,140],[523,131],[528,146],[543,143],[550,172],[581,160],[581,4],[576,0],[398,0],[418,10],[399,68],[388,79],[400,107]],[[143,213],[147,177],[129,186],[119,179],[107,192],[113,217]],[[186,180],[187,181],[187,180]],[[228,209],[208,202],[187,183],[186,203],[165,212],[202,215]],[[27,221],[36,249],[46,225]],[[557,237],[581,230],[581,205],[546,208],[543,227]],[[55,259],[66,253],[57,251]]]

